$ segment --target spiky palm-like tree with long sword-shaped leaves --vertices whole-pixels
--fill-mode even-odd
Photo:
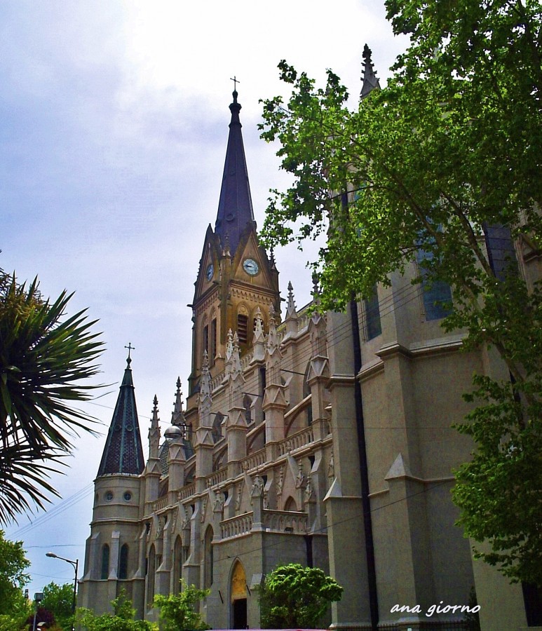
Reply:
[[[69,454],[86,414],[71,407],[99,386],[79,381],[98,372],[102,350],[85,311],[65,310],[72,294],[54,301],[0,270],[0,524],[57,495],[49,474]]]

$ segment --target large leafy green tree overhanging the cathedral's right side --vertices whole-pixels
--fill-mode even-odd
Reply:
[[[480,405],[460,428],[476,447],[457,475],[460,523],[489,542],[479,552],[487,562],[542,585],[541,287],[511,259],[492,265],[485,247],[501,226],[524,252],[541,251],[542,9],[536,0],[386,7],[411,43],[388,85],[357,109],[332,71],[317,89],[280,62],[292,96],[264,101],[261,130],[280,142],[293,184],[272,191],[263,237],[327,233],[314,264],[325,308],[371,297],[375,283],[412,271],[416,254],[414,282],[452,287],[443,326],[466,330],[466,348],[496,348],[510,373],[477,376],[468,394]]]

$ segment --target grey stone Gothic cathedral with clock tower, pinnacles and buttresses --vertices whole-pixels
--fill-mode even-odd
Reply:
[[[362,95],[375,86],[367,57]],[[520,628],[521,588],[473,559],[450,498],[472,448],[452,428],[470,409],[461,394],[474,372],[494,374],[495,358],[461,352],[463,333],[442,330],[435,300],[449,287],[435,297],[412,285],[416,261],[348,313],[320,313],[317,287],[304,308],[292,285],[281,298],[257,236],[236,91],[229,109],[191,304],[188,397],[177,380],[165,427],[155,398],[145,461],[128,354],[78,604],[109,611],[125,589],[139,618],[157,620],[154,595],[178,593],[182,579],[210,589],[210,627],[257,628],[257,587],[297,562],[344,586],[325,626],[466,628],[426,612],[468,604],[475,587],[482,620],[508,620],[482,628]]]

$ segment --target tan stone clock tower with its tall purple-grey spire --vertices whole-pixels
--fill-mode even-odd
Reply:
[[[278,271],[259,245],[241,134],[237,91],[215,229],[209,224],[201,255],[193,310],[192,372],[189,397],[198,392],[205,353],[211,377],[224,369],[228,331],[237,332],[241,354],[252,347],[257,310],[264,326],[273,305],[280,309]]]

